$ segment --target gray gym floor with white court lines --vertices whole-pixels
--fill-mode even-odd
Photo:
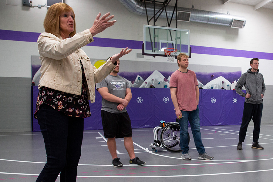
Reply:
[[[102,130],[85,130],[77,182],[165,182],[165,181],[273,181],[273,125],[262,124],[259,143],[264,150],[253,149],[253,125],[237,150],[240,126],[203,126],[202,141],[213,160],[197,159],[191,130],[189,153],[192,160],[181,159],[182,153],[164,149],[154,152],[153,128],[133,129],[136,156],[146,161],[144,166],[130,166],[123,139],[116,139],[117,152],[123,167],[115,168]],[[45,161],[45,147],[40,132],[0,133],[0,181],[34,182]],[[59,181],[59,177],[57,178]]]

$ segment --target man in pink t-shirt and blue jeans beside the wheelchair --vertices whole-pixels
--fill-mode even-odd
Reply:
[[[179,69],[170,77],[170,93],[174,110],[180,125],[181,158],[191,160],[188,145],[188,121],[192,130],[195,147],[199,153],[198,159],[211,160],[204,148],[200,132],[199,118],[199,87],[194,71],[187,69],[189,56],[180,53],[177,56]]]

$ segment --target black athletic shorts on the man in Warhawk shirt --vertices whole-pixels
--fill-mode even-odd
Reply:
[[[102,110],[101,119],[105,138],[132,136],[131,120],[127,112],[110,113]]]

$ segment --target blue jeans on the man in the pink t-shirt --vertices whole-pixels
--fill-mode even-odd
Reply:
[[[205,148],[201,139],[200,132],[200,118],[199,118],[199,107],[193,111],[182,111],[182,118],[179,121],[180,125],[180,147],[182,149],[182,154],[189,153],[188,144],[188,121],[190,122],[191,131],[194,138],[194,144],[198,153],[205,153]]]

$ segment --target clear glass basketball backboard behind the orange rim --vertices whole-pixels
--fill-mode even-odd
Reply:
[[[144,25],[143,38],[143,55],[166,56],[164,49],[174,48],[177,49],[177,55],[184,52],[191,56],[190,30]]]

